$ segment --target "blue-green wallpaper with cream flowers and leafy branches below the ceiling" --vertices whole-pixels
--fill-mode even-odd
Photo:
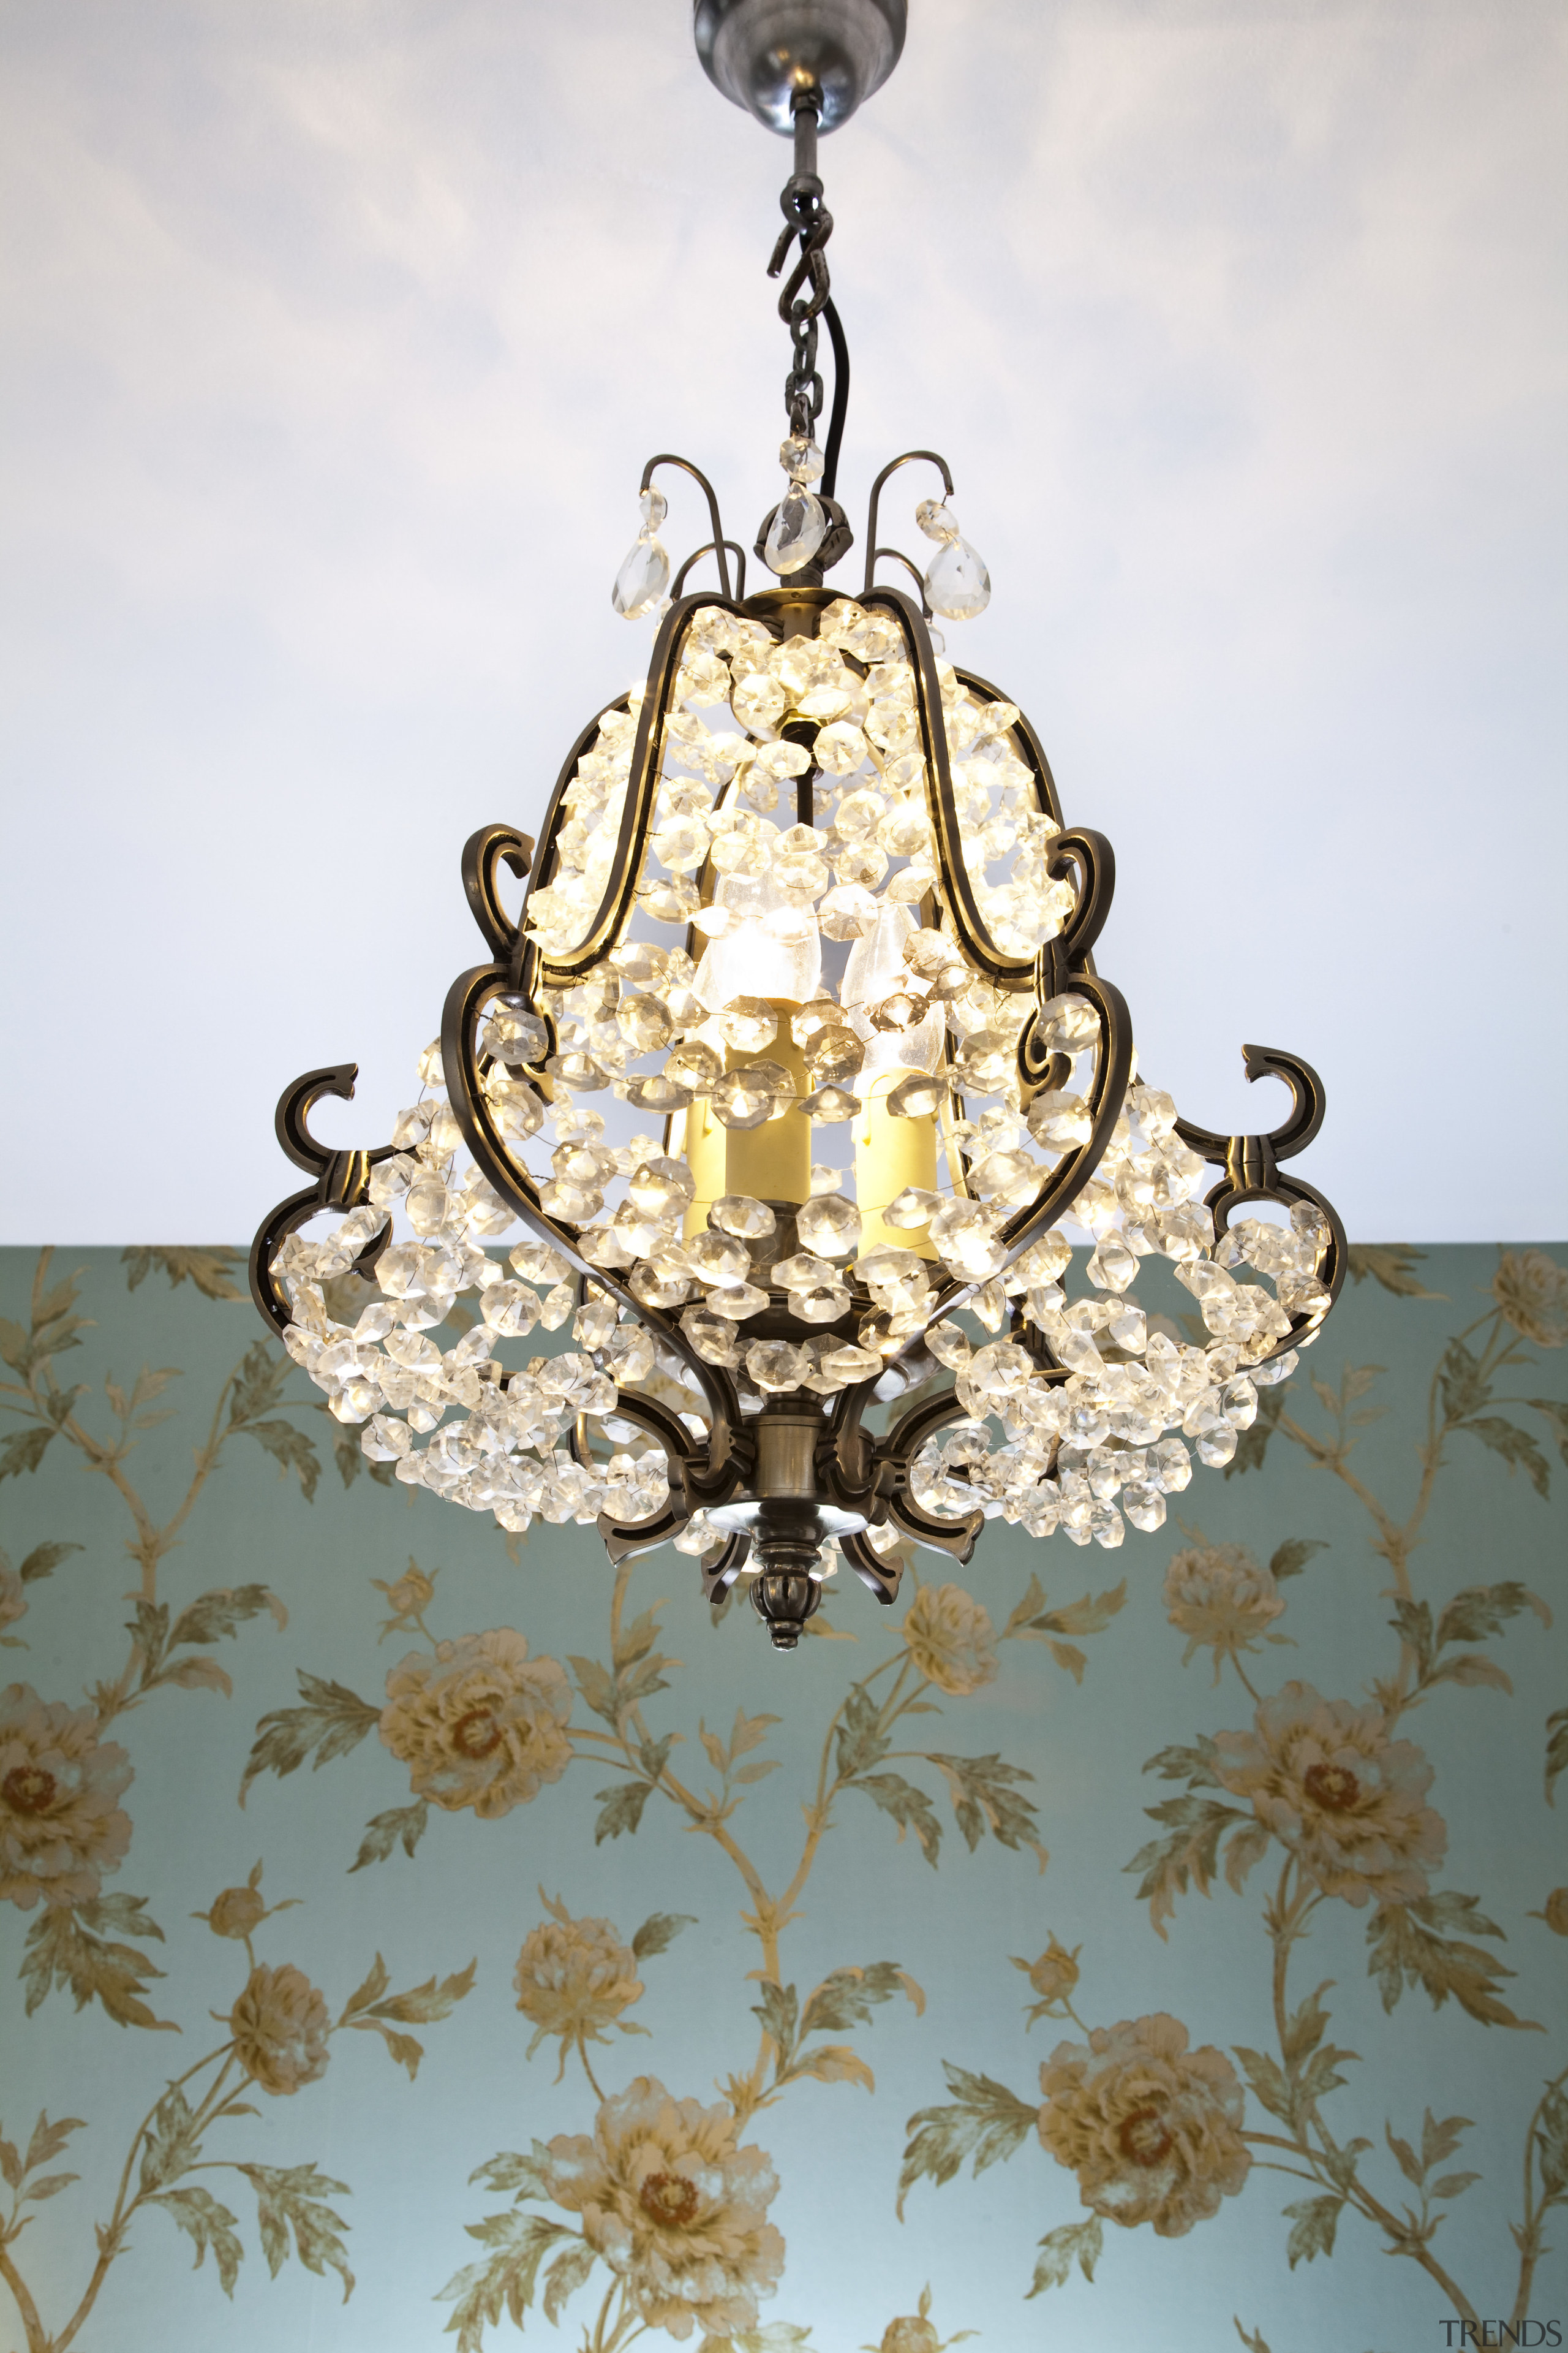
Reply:
[[[1126,1572],[783,1659],[237,1252],[2,1254],[2,2344],[1559,2341],[1566,1261],[1359,1249]]]

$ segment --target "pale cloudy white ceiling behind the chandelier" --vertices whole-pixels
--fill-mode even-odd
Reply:
[[[910,16],[823,144],[842,492],[950,456],[997,591],[950,649],[1119,849],[1145,1071],[1262,1127],[1241,1040],[1314,1061],[1352,1238],[1568,1233],[1568,19]],[[357,1056],[320,1127],[386,1134],[480,960],[465,833],[644,659],[642,459],[745,541],[776,496],[788,148],[686,0],[9,0],[0,45],[0,1238],[244,1240],[280,1085]]]

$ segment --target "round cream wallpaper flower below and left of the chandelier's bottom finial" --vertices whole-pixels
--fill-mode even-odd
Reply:
[[[510,1626],[409,1652],[386,1678],[381,1739],[418,1798],[482,1821],[510,1814],[571,1762],[571,1685],[559,1659],[529,1659]]]

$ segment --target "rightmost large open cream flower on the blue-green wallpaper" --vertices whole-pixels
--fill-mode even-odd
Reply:
[[[1448,1831],[1422,1802],[1432,1767],[1413,1741],[1387,1737],[1380,1708],[1286,1682],[1251,1732],[1215,1734],[1215,1751],[1220,1784],[1251,1798],[1324,1894],[1347,1904],[1427,1894],[1427,1866],[1441,1864]]]

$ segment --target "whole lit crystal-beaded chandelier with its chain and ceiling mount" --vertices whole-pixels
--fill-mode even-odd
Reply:
[[[1034,729],[933,626],[990,602],[936,452],[882,468],[860,584],[825,586],[856,541],[816,148],[903,24],[905,0],[696,0],[708,75],[795,141],[769,584],[745,593],[708,478],[649,459],[614,581],[658,616],[646,678],[583,727],[538,845],[463,847],[487,960],[390,1141],[310,1134],[353,1064],[284,1092],[310,1181],[252,1249],[261,1313],[374,1464],[510,1532],[675,1541],[708,1600],[748,1581],[780,1649],[839,1565],[891,1602],[910,1544],[969,1560],[994,1515],[1157,1529],[1345,1275],[1340,1219],[1281,1172],[1324,1118],[1305,1061],[1244,1049],[1293,1096],[1265,1136],[1194,1127],[1138,1071],[1093,962],[1110,842],[1065,826]],[[710,520],[675,569],[672,471]],[[924,565],[879,544],[896,478],[926,492]]]

